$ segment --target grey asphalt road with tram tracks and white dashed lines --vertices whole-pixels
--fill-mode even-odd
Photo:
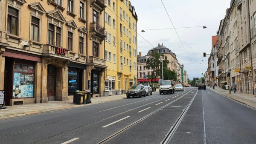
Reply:
[[[0,121],[2,144],[253,144],[256,110],[195,87]]]

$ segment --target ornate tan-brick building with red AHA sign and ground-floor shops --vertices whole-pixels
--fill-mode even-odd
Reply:
[[[104,91],[104,0],[0,0],[5,104],[64,101]]]

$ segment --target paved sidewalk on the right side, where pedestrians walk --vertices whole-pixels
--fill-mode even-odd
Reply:
[[[209,87],[208,87],[209,88]],[[209,88],[215,92],[220,93],[221,95],[224,95],[228,98],[232,98],[235,101],[239,101],[243,104],[246,104],[250,107],[254,107],[256,109],[256,97],[252,94],[247,94],[245,92],[241,93],[237,91],[234,93],[234,91],[231,91],[231,94],[229,93],[229,90],[221,89],[218,86],[215,86],[215,89]]]

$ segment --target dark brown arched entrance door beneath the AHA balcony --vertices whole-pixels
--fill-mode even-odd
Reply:
[[[56,67],[48,65],[47,72],[47,95],[49,101],[55,101],[56,95]]]

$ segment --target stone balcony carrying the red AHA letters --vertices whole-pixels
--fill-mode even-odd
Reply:
[[[58,47],[58,46],[54,46],[54,45],[51,45],[51,44],[45,44],[43,46],[43,51],[42,52],[44,53],[45,56],[70,60],[69,50]]]

